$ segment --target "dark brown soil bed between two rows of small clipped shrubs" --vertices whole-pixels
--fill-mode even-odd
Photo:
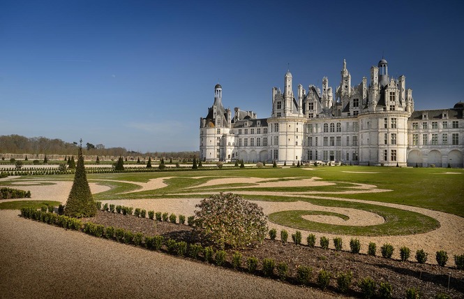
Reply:
[[[163,221],[153,221],[148,218],[124,216],[110,212],[98,212],[96,217],[82,219],[94,224],[124,228],[134,233],[141,232],[146,236],[163,235],[167,239],[193,243],[191,228],[187,225],[172,224]],[[346,246],[346,245],[345,245]],[[379,247],[379,245],[377,245]],[[163,248],[163,251],[166,249]],[[227,251],[226,267],[231,267],[232,254],[236,250]],[[364,254],[351,254],[348,251],[335,251],[297,246],[293,243],[283,245],[278,240],[264,240],[260,247],[255,249],[240,250],[242,254],[242,271],[246,271],[246,258],[255,256],[259,259],[257,275],[262,275],[261,261],[263,258],[273,258],[277,263],[287,263],[289,268],[287,282],[297,284],[295,277],[299,265],[310,266],[313,269],[309,286],[317,287],[317,274],[324,269],[331,272],[332,278],[327,288],[329,292],[337,291],[336,275],[338,272],[352,271],[353,279],[349,296],[361,297],[361,290],[356,282],[364,277],[371,277],[375,282],[388,282],[391,284],[394,298],[405,298],[407,289],[412,287],[419,289],[421,298],[435,298],[438,293],[445,293],[451,298],[464,298],[464,271],[455,268],[440,267],[438,265],[419,264],[414,262],[402,262],[389,258],[367,256]],[[414,253],[411,253],[414,259]],[[435,259],[434,254],[429,254],[430,259]],[[450,258],[453,258],[450,256]],[[198,260],[198,259],[197,259]],[[197,261],[196,260],[196,261]],[[202,255],[199,258],[204,261]],[[277,279],[277,277],[274,277]]]

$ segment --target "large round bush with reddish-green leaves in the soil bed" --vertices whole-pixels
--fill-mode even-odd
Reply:
[[[196,207],[193,231],[202,242],[220,247],[253,247],[267,234],[262,207],[235,194],[204,198]]]

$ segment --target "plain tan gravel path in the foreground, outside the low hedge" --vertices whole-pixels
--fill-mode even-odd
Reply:
[[[0,211],[0,298],[336,298]]]

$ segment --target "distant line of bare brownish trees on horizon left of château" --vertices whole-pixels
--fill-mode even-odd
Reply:
[[[20,135],[0,136],[0,153],[3,154],[63,154],[73,155],[77,153],[77,143],[67,143],[61,139],[46,137],[25,137]],[[101,156],[158,156],[167,158],[193,159],[200,156],[200,152],[134,152],[124,147],[106,148],[103,144],[93,145],[87,143],[82,147],[84,155]]]

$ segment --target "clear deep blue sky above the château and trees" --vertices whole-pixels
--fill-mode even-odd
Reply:
[[[198,150],[200,117],[271,113],[297,85],[382,58],[416,110],[463,101],[463,1],[0,1],[0,135]],[[1,146],[1,145],[0,145]]]

